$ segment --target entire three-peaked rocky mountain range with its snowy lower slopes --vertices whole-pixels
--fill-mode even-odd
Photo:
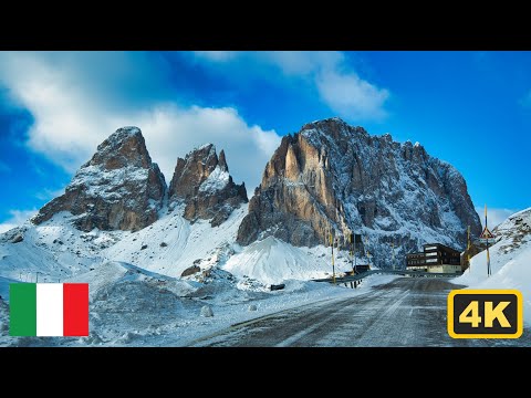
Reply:
[[[285,136],[249,207],[222,150],[208,144],[177,159],[167,188],[142,132],[124,127],[64,195],[0,235],[0,276],[58,281],[118,261],[171,277],[216,268],[262,283],[308,280],[332,271],[330,230],[364,234],[385,266],[393,240],[397,259],[429,241],[461,248],[467,224],[480,229],[454,167],[339,118]],[[339,272],[352,266],[344,250],[335,260]]]

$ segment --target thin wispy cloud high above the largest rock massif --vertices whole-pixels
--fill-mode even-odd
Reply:
[[[321,101],[337,115],[350,119],[382,119],[389,91],[363,80],[337,51],[264,51],[223,54],[196,54],[208,62],[228,63],[239,59],[277,67],[288,77],[311,82]],[[273,77],[275,78],[275,77]]]

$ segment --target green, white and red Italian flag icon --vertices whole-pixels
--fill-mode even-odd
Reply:
[[[88,336],[88,283],[11,283],[10,336]]]

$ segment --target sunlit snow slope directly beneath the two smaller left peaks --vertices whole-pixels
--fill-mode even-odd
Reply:
[[[97,229],[82,232],[72,227],[72,216],[67,212],[58,213],[40,226],[27,222],[0,235],[0,276],[58,282],[108,261],[180,276],[194,264],[208,268],[226,260],[246,206],[236,209],[219,227],[211,227],[208,220],[191,224],[183,218],[181,208],[165,212],[137,232]],[[23,235],[23,241],[12,243],[17,234]]]

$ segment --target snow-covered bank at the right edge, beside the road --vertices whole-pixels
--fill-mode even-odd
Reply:
[[[531,323],[531,208],[512,214],[492,232],[499,239],[489,250],[492,275],[487,276],[487,251],[482,251],[455,282],[470,289],[520,290],[525,322]]]

